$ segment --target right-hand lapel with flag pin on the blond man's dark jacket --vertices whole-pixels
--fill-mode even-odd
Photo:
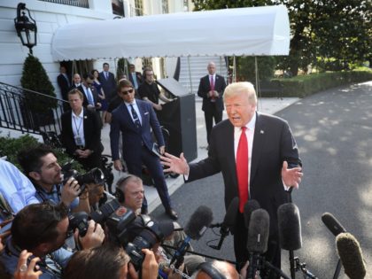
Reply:
[[[262,122],[260,118],[260,113],[256,112],[256,125],[254,128],[253,136],[253,149],[252,149],[252,159],[251,159],[251,179],[253,182],[254,175],[257,172],[257,168],[260,164],[261,152],[265,145],[265,123]]]

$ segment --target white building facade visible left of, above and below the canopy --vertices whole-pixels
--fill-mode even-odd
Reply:
[[[39,0],[23,0],[22,2],[30,10],[37,25],[37,45],[33,48],[34,56],[40,59],[59,95],[57,85],[59,63],[53,61],[50,51],[54,33],[58,27],[68,23],[112,19],[114,15],[111,0],[89,0],[89,9]],[[0,1],[0,81],[14,86],[20,85],[23,63],[28,55],[28,49],[20,43],[14,27],[18,3],[14,0]],[[189,3],[192,9],[191,0]],[[123,4],[126,16],[135,15],[133,13],[134,0],[124,0]],[[184,12],[183,0],[168,0],[168,8],[169,12]],[[145,15],[162,13],[162,0],[143,0],[143,12]],[[94,30],[87,30],[87,32],[94,32]],[[81,42],[81,48],[85,43],[89,42]],[[173,76],[175,61],[174,58],[166,59],[166,75]],[[108,62],[112,73],[116,74],[116,60],[96,60],[94,67],[101,71],[104,62]],[[136,70],[141,71],[141,59],[133,62],[136,64]],[[152,58],[152,63],[155,73],[158,77],[162,77],[159,58]]]

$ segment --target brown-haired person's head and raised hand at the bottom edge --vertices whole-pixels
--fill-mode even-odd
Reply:
[[[142,279],[156,279],[158,263],[155,255],[148,249],[142,264]],[[122,279],[139,278],[128,254],[120,246],[104,244],[89,250],[74,254],[64,270],[64,279]]]

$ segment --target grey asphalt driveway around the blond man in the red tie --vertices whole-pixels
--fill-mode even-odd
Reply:
[[[372,278],[372,81],[322,91],[283,107],[275,115],[289,121],[304,171],[299,189],[292,192],[301,216],[303,242],[295,256],[318,278],[333,278],[338,260],[335,236],[321,220],[323,213],[332,213],[360,242],[366,278]],[[203,119],[197,121],[198,126],[204,125]],[[202,129],[198,128],[198,151],[206,146],[199,135]],[[205,155],[206,151],[198,159]],[[182,226],[199,205],[212,209],[213,222],[223,220],[222,183],[221,174],[215,174],[177,186],[171,198]],[[151,215],[167,218],[161,205]],[[208,246],[218,243],[218,233],[218,229],[207,230],[200,240],[192,241],[194,249],[234,260],[232,236],[220,251]],[[282,265],[290,275],[288,252],[283,251]],[[302,277],[300,272],[297,277]],[[339,278],[347,278],[343,269]]]

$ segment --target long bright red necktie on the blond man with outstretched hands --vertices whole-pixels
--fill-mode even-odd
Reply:
[[[242,127],[236,151],[236,174],[239,186],[239,211],[244,212],[244,204],[248,199],[248,140],[245,135],[246,127]]]

